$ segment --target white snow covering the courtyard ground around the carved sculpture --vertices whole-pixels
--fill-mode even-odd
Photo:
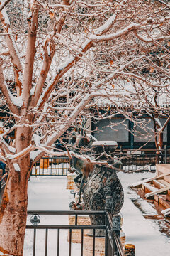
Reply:
[[[170,255],[170,239],[160,232],[158,221],[145,219],[143,213],[154,215],[155,210],[147,201],[142,201],[135,191],[128,186],[142,178],[154,176],[149,172],[137,174],[119,173],[120,181],[125,192],[125,203],[121,213],[123,214],[123,232],[126,235],[126,243],[135,245],[136,256],[168,256]],[[28,210],[69,210],[69,202],[73,196],[66,189],[66,177],[31,177],[28,185]],[[140,201],[142,211],[139,210],[133,200]],[[162,221],[162,220],[160,220]],[[30,216],[28,216],[30,223]],[[41,224],[67,224],[68,216],[42,216]],[[67,256],[69,243],[67,242],[67,230],[63,230],[60,237],[60,255]],[[33,230],[27,230],[24,256],[33,255]],[[57,255],[57,231],[51,230],[48,238],[49,255]],[[45,255],[45,232],[38,232],[36,243],[36,256]],[[80,255],[80,244],[72,244],[72,255]]]

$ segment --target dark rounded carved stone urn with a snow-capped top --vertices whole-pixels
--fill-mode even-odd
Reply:
[[[107,161],[108,164],[112,166],[109,167],[104,164],[102,166],[96,165],[93,173],[87,178],[83,193],[86,210],[105,210],[106,197],[109,198],[109,210],[112,215],[118,214],[123,206],[123,187],[116,174],[116,170],[122,169],[122,164],[120,161],[113,158],[117,146],[118,144],[116,142],[94,142],[92,144],[96,154],[101,154],[98,161]],[[102,154],[103,150],[105,154]],[[91,215],[90,218],[92,225],[103,225],[105,223],[104,216]],[[103,230],[96,230],[96,236],[103,235]]]

